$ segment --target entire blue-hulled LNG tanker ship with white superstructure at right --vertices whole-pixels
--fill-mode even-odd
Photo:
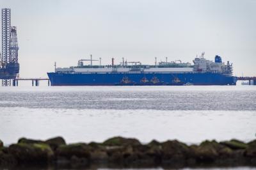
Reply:
[[[90,65],[84,65],[90,61]],[[232,76],[232,64],[204,58],[204,53],[191,63],[180,60],[161,61],[155,65],[123,61],[119,65],[93,65],[91,59],[80,59],[77,66],[56,68],[47,73],[52,86],[180,86],[180,85],[236,85],[237,77]]]

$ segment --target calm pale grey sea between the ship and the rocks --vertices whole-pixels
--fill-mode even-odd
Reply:
[[[255,139],[256,86],[1,87],[0,139]]]

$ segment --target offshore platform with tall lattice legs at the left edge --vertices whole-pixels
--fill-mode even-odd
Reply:
[[[17,28],[11,26],[10,8],[2,9],[2,54],[0,53],[0,79],[2,86],[12,86],[19,77]]]

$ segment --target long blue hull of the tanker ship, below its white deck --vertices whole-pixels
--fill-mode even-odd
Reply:
[[[236,85],[237,77],[221,73],[47,73],[51,86]],[[124,77],[129,80],[124,82]],[[157,78],[158,82],[152,82]],[[148,82],[141,82],[147,79]],[[173,82],[179,79],[180,82]],[[181,83],[182,82],[182,83]]]

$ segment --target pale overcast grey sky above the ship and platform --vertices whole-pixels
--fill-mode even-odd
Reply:
[[[216,54],[234,75],[256,75],[255,0],[0,0],[17,26],[20,77],[46,77],[57,66]],[[95,63],[96,64],[96,63]],[[98,63],[97,63],[98,64]]]

